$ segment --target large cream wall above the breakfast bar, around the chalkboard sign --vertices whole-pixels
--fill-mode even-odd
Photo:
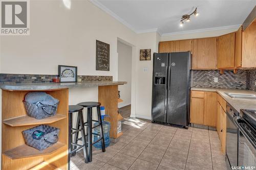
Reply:
[[[58,64],[78,75],[117,80],[117,37],[135,44],[136,33],[89,1],[30,1],[30,35],[2,36],[2,73],[57,74]],[[110,71],[95,70],[95,41],[110,44]],[[8,64],[7,64],[8,63]]]

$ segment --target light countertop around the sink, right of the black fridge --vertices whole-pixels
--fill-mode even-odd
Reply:
[[[236,109],[239,112],[240,112],[240,109],[256,110],[256,100],[230,98],[227,94],[225,94],[225,92],[256,94],[255,91],[239,90],[239,89],[225,89],[225,88],[205,88],[205,87],[192,87],[190,90],[216,91],[217,93],[219,93],[222,96],[222,98],[227,103],[229,103],[234,109]]]

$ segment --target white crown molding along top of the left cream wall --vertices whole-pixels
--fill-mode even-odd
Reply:
[[[96,7],[98,7],[99,9],[101,9],[102,11],[108,13],[110,16],[114,17],[116,20],[118,20],[119,22],[121,22],[124,26],[128,27],[129,29],[131,29],[133,32],[137,33],[137,31],[125,20],[123,20],[122,18],[120,18],[117,14],[115,14],[114,12],[112,12],[109,8],[106,8],[104,5],[102,5],[99,1],[97,0],[90,0],[91,3],[93,3]]]

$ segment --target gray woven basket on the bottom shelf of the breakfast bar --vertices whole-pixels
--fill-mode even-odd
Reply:
[[[44,135],[39,139],[34,138],[37,131],[44,132]],[[47,125],[40,125],[22,132],[26,144],[30,147],[38,149],[39,151],[45,150],[58,141],[59,129]]]

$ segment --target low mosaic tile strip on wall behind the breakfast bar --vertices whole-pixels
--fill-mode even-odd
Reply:
[[[0,84],[15,83],[51,83],[57,75],[22,75],[22,74],[0,74]],[[112,81],[112,76],[77,76],[82,82],[86,81]]]

